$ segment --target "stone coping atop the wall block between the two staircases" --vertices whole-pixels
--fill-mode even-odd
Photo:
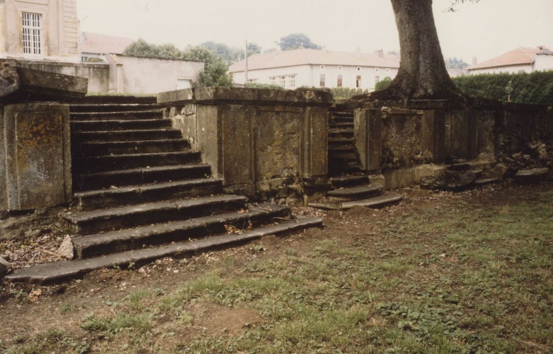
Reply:
[[[283,105],[331,106],[332,94],[312,90],[273,90],[270,88],[247,87],[199,87],[161,92],[158,103],[279,103]]]

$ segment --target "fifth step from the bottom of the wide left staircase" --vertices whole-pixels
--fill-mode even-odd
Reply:
[[[74,186],[78,190],[111,188],[112,186],[132,186],[145,183],[197,179],[211,175],[208,164],[187,164],[153,166],[113,170],[77,175]]]

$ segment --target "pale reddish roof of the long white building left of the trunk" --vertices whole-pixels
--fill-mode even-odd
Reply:
[[[397,56],[389,54],[384,54],[381,57],[376,54],[321,49],[273,51],[272,53],[254,54],[248,58],[248,70],[305,64],[399,67],[399,59]],[[244,59],[232,64],[228,71],[239,72],[245,69],[246,60]]]

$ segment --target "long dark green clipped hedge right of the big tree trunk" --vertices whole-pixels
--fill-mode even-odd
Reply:
[[[469,95],[504,102],[542,103],[553,105],[553,71],[532,74],[482,74],[453,78],[453,82]]]

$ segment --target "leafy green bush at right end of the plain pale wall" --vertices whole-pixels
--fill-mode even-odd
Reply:
[[[232,86],[232,77],[227,74],[227,63],[210,49],[200,45],[187,46],[183,59],[201,60],[205,63],[204,71],[200,72],[200,79],[192,83],[194,87]]]

